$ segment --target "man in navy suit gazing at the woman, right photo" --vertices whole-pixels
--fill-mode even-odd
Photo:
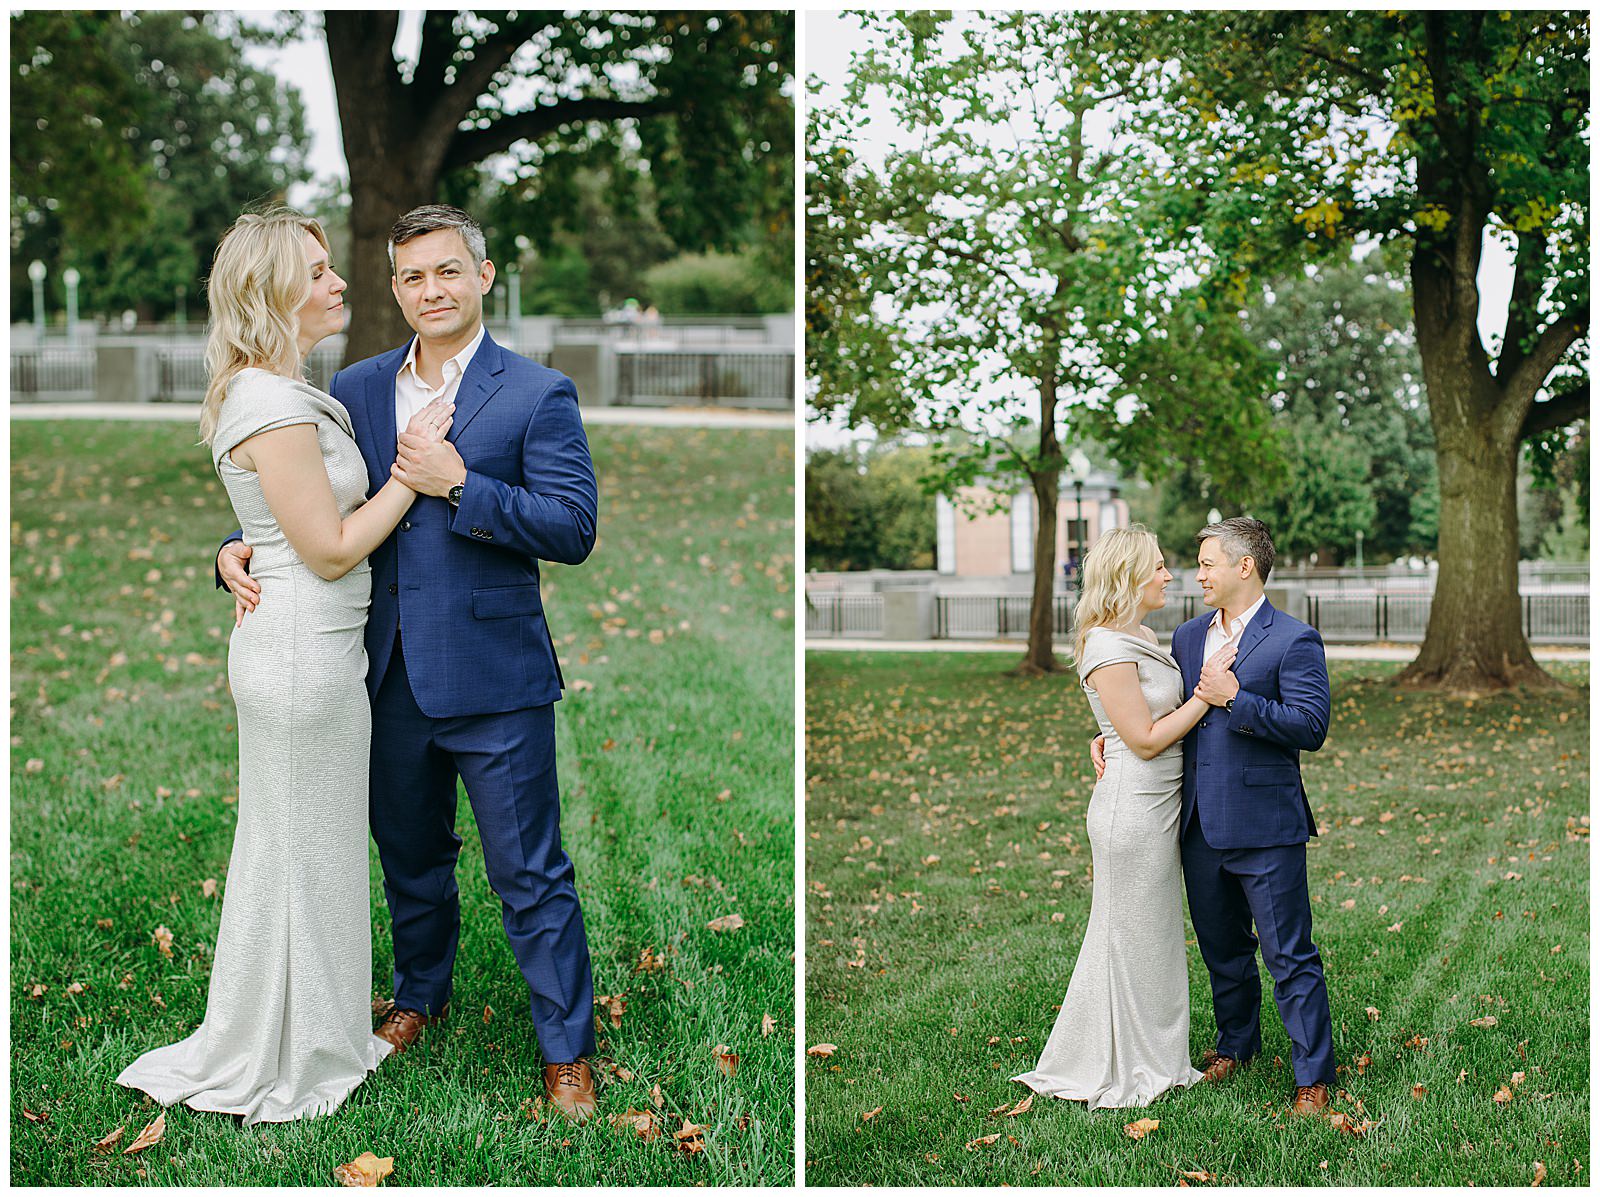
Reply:
[[[1299,754],[1315,752],[1328,735],[1328,661],[1317,629],[1267,602],[1277,555],[1267,525],[1230,518],[1195,539],[1195,579],[1216,611],[1173,634],[1173,658],[1186,699],[1197,683],[1216,695],[1184,738],[1178,827],[1189,915],[1216,1010],[1216,1047],[1202,1064],[1206,1080],[1222,1082],[1261,1051],[1259,936],[1290,1035],[1290,1109],[1318,1115],[1334,1082],[1333,1018],[1310,938],[1306,842],[1317,824]],[[1096,773],[1104,771],[1102,744],[1091,749]]]

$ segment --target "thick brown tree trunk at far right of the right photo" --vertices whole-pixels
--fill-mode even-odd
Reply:
[[[1438,454],[1438,581],[1427,635],[1395,685],[1485,693],[1557,687],[1533,659],[1517,579],[1517,458],[1522,416],[1488,368],[1477,333],[1477,253],[1418,248],[1416,339]],[[1470,296],[1466,294],[1467,288]],[[1528,395],[1531,402],[1531,392]],[[1526,403],[1520,405],[1522,410]]]

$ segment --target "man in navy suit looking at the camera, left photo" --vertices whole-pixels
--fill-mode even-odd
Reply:
[[[494,344],[483,230],[427,205],[389,237],[390,288],[416,338],[333,376],[373,490],[422,496],[371,555],[366,687],[370,823],[392,922],[394,1002],[376,1034],[405,1051],[450,1013],[461,933],[456,779],[483,839],[554,1106],[594,1114],[594,979],[573,864],[562,850],[555,715],[562,672],[539,602],[539,560],[576,565],[598,498],[571,379]],[[430,400],[454,424],[429,445],[403,432]],[[259,586],[230,539],[218,579],[243,610]]]

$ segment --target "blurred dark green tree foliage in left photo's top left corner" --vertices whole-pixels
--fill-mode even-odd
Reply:
[[[248,66],[216,13],[29,11],[11,61],[13,307],[38,258],[56,306],[75,266],[85,315],[165,315],[182,286],[202,317],[221,234],[307,178],[299,94]]]

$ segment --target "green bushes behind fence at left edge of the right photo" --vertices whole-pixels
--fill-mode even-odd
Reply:
[[[806,570],[931,570],[934,499],[917,446],[822,450],[805,464]]]

